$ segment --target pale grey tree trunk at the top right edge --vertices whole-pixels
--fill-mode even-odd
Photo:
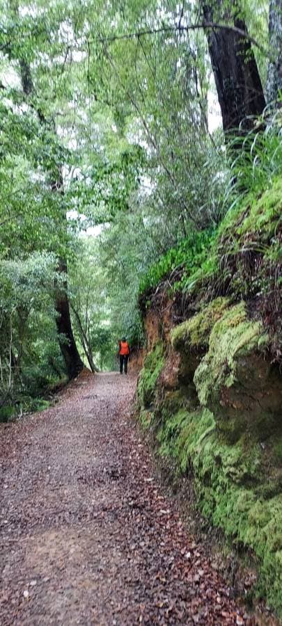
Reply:
[[[271,61],[265,88],[268,104],[277,102],[279,92],[282,96],[282,0],[269,0],[269,47]]]

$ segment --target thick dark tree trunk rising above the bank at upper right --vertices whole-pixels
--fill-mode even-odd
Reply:
[[[230,2],[228,14],[224,11],[222,0],[214,0],[203,6],[206,22],[216,20],[230,23],[233,2]],[[246,32],[242,19],[234,19],[235,28]],[[221,108],[224,133],[242,131],[253,127],[249,116],[260,115],[265,109],[263,87],[258,74],[256,59],[251,43],[242,35],[230,29],[212,29],[207,32],[207,42],[212,61],[214,80]]]

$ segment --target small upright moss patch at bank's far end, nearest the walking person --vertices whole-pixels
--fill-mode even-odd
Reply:
[[[143,408],[150,408],[154,401],[155,386],[159,374],[164,367],[164,345],[162,342],[155,344],[146,356],[143,369],[139,376],[137,396]]]

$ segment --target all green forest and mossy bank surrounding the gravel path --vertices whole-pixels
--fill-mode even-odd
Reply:
[[[0,8],[0,422],[125,336],[141,428],[278,612],[281,60],[281,0]]]

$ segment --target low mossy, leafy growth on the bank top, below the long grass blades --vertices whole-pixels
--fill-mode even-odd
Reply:
[[[196,247],[189,248],[189,241],[192,235],[180,248],[179,257],[173,249],[171,256],[151,268],[147,289],[173,259],[187,255],[190,265],[182,263],[178,272],[174,268],[164,289],[184,296],[188,303],[194,301],[196,308],[219,296],[252,302],[253,312],[267,326],[274,360],[281,361],[282,179],[274,180],[264,193],[246,195],[216,232],[198,233]],[[151,288],[143,294],[143,303],[149,300],[150,304],[153,298]]]

